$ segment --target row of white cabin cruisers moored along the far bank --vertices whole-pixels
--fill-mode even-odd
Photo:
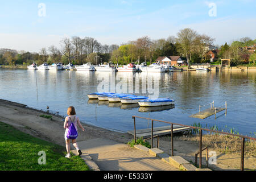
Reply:
[[[102,71],[102,72],[174,72],[174,71],[183,71],[176,67],[171,67],[165,64],[151,64],[147,66],[147,63],[143,62],[141,65],[135,65],[133,63],[123,65],[122,67],[114,67],[112,63],[101,64],[101,65],[92,65],[91,63],[86,63],[83,65],[73,65],[69,63],[68,65],[63,65],[61,63],[54,63],[48,65],[44,63],[37,66],[35,63],[29,65],[27,69],[39,69],[39,70],[76,70],[76,71]]]

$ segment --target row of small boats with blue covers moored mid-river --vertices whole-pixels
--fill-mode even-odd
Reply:
[[[174,105],[175,100],[170,98],[148,98],[145,96],[135,96],[131,94],[118,94],[118,93],[90,93],[89,99],[98,99],[99,101],[121,102],[122,104],[139,104],[142,107],[155,107]]]

